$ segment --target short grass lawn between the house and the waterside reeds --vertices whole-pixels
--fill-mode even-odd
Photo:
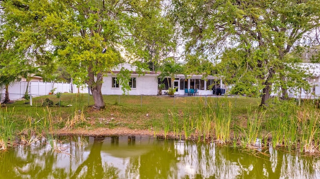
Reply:
[[[53,107],[43,107],[41,104],[48,98],[53,101]],[[60,98],[54,95],[47,95],[32,98],[32,106],[25,104],[26,101],[16,101],[7,104],[7,110],[13,110],[11,116],[20,126],[23,127],[27,119],[39,120],[48,112],[52,115],[53,121],[67,121],[74,116],[74,112],[81,110],[88,124],[86,128],[95,129],[99,127],[115,128],[125,127],[129,129],[149,130],[152,127],[164,128],[163,121],[171,113],[182,115],[183,113],[195,113],[204,104],[220,103],[232,104],[232,117],[241,118],[246,115],[247,107],[257,108],[260,102],[258,98],[243,96],[235,97],[170,97],[170,96],[128,96],[128,95],[106,95],[103,96],[106,104],[105,110],[94,111],[89,106],[93,105],[93,98],[88,94],[64,93]],[[55,105],[60,102],[61,106]],[[72,105],[67,107],[67,105]],[[2,108],[2,110],[4,110]],[[63,128],[60,122],[57,128]],[[75,126],[81,128],[83,126]],[[22,128],[19,128],[22,129]]]

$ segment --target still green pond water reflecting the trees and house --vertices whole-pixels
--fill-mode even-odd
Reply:
[[[45,142],[0,153],[0,179],[320,178],[320,158],[272,148],[258,153],[141,136],[68,136],[54,141],[52,151]]]

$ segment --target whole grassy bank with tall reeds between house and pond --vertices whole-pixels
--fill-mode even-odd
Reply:
[[[58,96],[59,97],[59,96]],[[52,106],[45,106],[50,99]],[[28,144],[38,136],[97,129],[144,130],[155,136],[214,141],[262,150],[319,151],[319,110],[313,101],[272,99],[259,108],[249,97],[104,96],[106,109],[93,111],[92,96],[62,94],[7,104],[0,110],[0,146]],[[84,132],[84,133],[86,133]]]

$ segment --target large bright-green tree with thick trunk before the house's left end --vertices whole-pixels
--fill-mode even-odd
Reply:
[[[4,0],[1,3],[5,14],[21,27],[16,31],[24,34],[23,41],[39,44],[29,45],[34,49],[46,46],[43,51],[37,50],[37,55],[45,56],[54,50],[73,81],[89,86],[97,109],[105,107],[101,94],[103,74],[123,62],[121,53],[141,56],[141,50],[134,49],[147,50],[152,44],[156,49],[162,48],[169,40],[166,31],[151,37],[155,34],[151,33],[152,29],[159,32],[158,29],[171,28],[166,27],[168,23],[161,13],[161,0],[41,0],[39,3]]]

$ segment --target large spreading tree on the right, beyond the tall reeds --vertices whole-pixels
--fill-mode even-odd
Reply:
[[[248,72],[256,78],[252,80],[262,89],[261,105],[269,98],[272,84],[278,83],[285,95],[288,84],[292,84],[286,82],[288,69],[297,71],[290,65],[298,62],[288,54],[306,45],[304,37],[312,35],[320,25],[318,0],[172,0],[172,3],[172,14],[186,37],[186,53],[198,54],[200,59],[221,60],[223,52],[234,53],[233,48],[245,52],[236,59],[242,63],[238,66],[242,70],[236,72],[242,76]]]

